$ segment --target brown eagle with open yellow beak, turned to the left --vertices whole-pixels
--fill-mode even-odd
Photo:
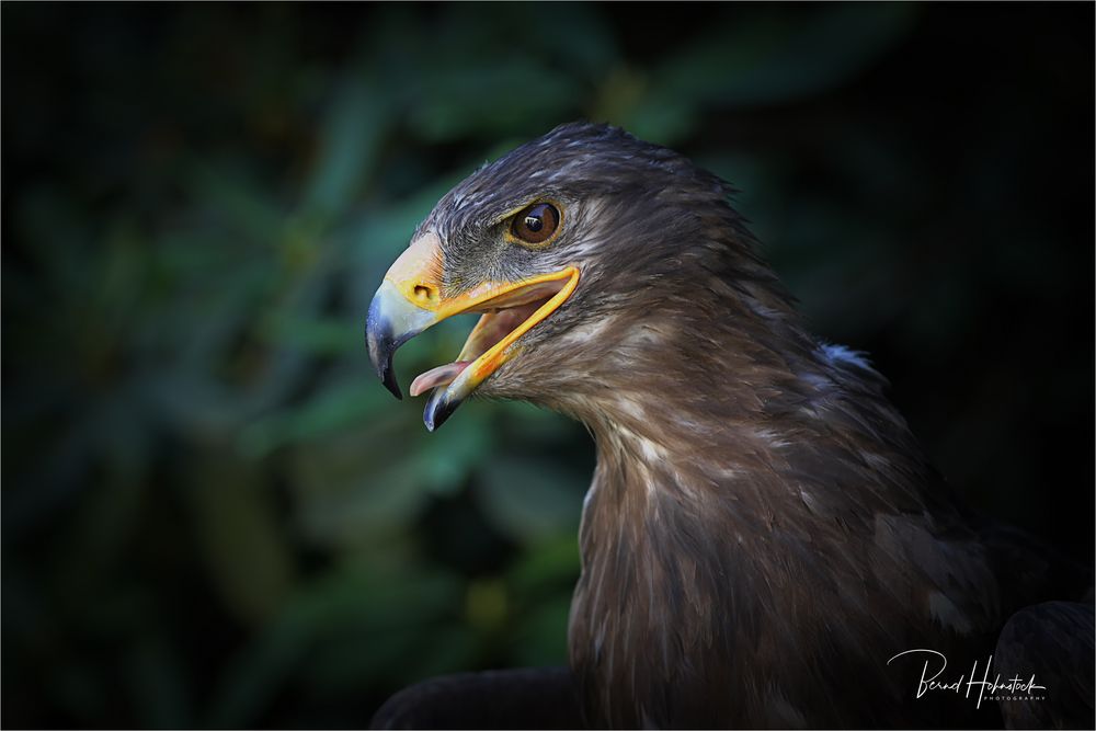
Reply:
[[[458,184],[392,264],[366,340],[397,397],[397,347],[482,313],[411,385],[429,430],[521,399],[584,423],[597,467],[570,671],[427,683],[378,722],[536,726],[500,708],[564,713],[573,688],[590,728],[1092,727],[1091,569],[960,503],[730,194],[563,125]]]

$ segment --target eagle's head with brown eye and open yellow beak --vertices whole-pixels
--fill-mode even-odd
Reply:
[[[727,318],[729,300],[770,298],[751,296],[751,283],[775,286],[730,192],[607,125],[562,125],[518,147],[446,194],[385,275],[366,325],[377,374],[401,398],[395,351],[477,312],[455,361],[411,384],[412,396],[432,389],[431,431],[473,392],[583,418],[612,389],[621,353],[633,369],[650,362],[654,378],[687,376],[689,349],[678,345],[703,339],[690,324]],[[783,310],[776,300],[764,307]]]

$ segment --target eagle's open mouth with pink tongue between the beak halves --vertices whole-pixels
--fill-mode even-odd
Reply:
[[[559,278],[567,275],[567,278]],[[570,296],[575,276],[570,270],[557,278],[520,285],[489,299],[477,301],[464,312],[482,312],[453,363],[431,368],[411,382],[411,396],[446,387],[469,370],[475,385],[494,373],[514,355],[516,341],[544,321]]]

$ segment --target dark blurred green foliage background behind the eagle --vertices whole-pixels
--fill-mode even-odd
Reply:
[[[579,117],[734,183],[960,492],[1092,560],[1092,3],[0,12],[4,727],[361,727],[564,662],[584,430],[427,434],[363,327],[452,184]]]

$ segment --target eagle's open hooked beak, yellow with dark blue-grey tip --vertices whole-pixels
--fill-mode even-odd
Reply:
[[[423,421],[434,431],[480,384],[520,351],[518,339],[555,312],[574,292],[579,270],[568,266],[518,282],[483,282],[443,296],[441,240],[427,231],[396,260],[369,305],[365,339],[377,376],[401,399],[392,356],[420,332],[461,312],[483,312],[454,363],[414,379],[411,396],[433,389]]]

